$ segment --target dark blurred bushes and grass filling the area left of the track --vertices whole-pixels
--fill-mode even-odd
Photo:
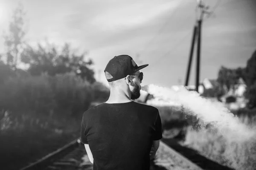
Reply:
[[[17,170],[78,138],[82,112],[108,96],[108,87],[74,73],[7,75],[0,83],[0,169]]]

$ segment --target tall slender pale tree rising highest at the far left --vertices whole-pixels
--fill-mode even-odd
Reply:
[[[13,12],[12,20],[9,24],[9,33],[5,33],[3,36],[4,44],[7,48],[6,62],[14,70],[17,68],[18,57],[24,44],[24,16],[23,5],[19,3],[18,7]]]

